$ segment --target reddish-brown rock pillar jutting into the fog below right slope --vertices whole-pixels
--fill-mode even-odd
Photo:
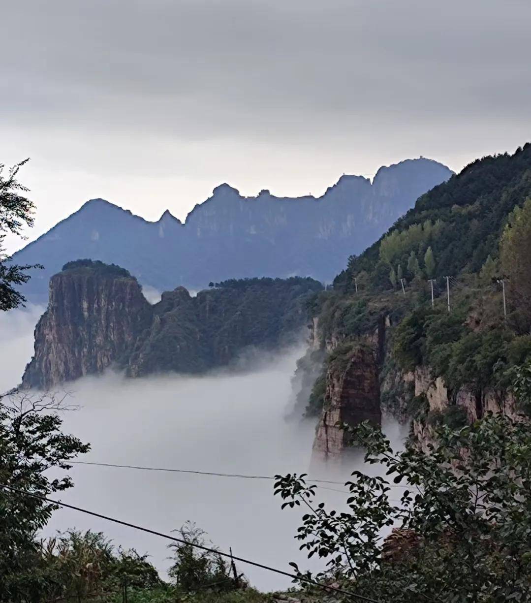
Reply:
[[[359,347],[341,362],[332,363],[326,383],[324,408],[313,443],[314,455],[324,459],[341,456],[350,445],[343,423],[350,426],[363,421],[375,426],[382,423],[375,352]]]

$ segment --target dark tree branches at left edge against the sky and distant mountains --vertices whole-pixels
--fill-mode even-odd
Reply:
[[[20,195],[28,189],[16,180],[19,169],[27,162],[28,159],[13,166],[8,171],[7,178],[2,176],[5,166],[0,163],[0,311],[24,305],[24,295],[14,287],[30,280],[27,270],[42,268],[40,264],[23,266],[11,264],[10,256],[5,253],[4,247],[7,233],[22,237],[24,225],[33,226],[34,203]]]

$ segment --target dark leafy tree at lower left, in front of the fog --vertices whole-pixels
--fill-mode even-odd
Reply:
[[[48,394],[11,393],[0,403],[0,484],[48,497],[72,487],[68,461],[87,452],[72,435],[63,434],[59,411],[63,400]],[[54,476],[49,475],[54,469]],[[33,601],[52,579],[39,567],[36,533],[55,505],[0,487],[0,601]]]

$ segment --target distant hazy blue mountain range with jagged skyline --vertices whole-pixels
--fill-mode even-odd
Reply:
[[[242,197],[227,184],[196,205],[182,224],[168,211],[148,222],[102,199],[14,254],[17,264],[43,264],[24,295],[46,303],[48,282],[80,257],[118,264],[159,291],[176,284],[202,289],[211,281],[256,276],[331,279],[453,172],[429,159],[382,167],[373,182],[344,175],[319,198]]]

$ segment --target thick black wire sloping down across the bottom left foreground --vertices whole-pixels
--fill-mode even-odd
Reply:
[[[0,488],[7,488],[11,492],[16,492],[18,494],[22,494],[23,496],[31,496],[33,498],[44,500],[45,502],[49,502],[52,505],[59,505],[60,507],[65,507],[67,509],[72,509],[74,511],[80,511],[80,513],[85,513],[87,515],[92,515],[93,517],[99,517],[99,519],[105,519],[109,522],[119,523],[120,525],[127,526],[128,528],[133,528],[140,530],[142,532],[147,532],[148,534],[154,534],[156,536],[160,536],[161,538],[166,538],[167,540],[173,540],[174,542],[179,542],[183,545],[193,546],[196,549],[201,549],[202,551],[207,551],[210,553],[215,553],[216,555],[221,555],[221,557],[227,557],[234,561],[239,561],[240,563],[247,563],[248,565],[252,565],[254,567],[260,567],[261,569],[266,569],[269,572],[280,573],[283,576],[287,576],[288,578],[295,578],[297,580],[301,580],[307,582],[308,584],[313,584],[313,586],[318,586],[320,589],[324,590],[333,590],[336,593],[340,593],[341,595],[347,595],[350,597],[354,597],[356,599],[360,599],[360,601],[369,601],[369,603],[380,603],[376,599],[371,599],[369,597],[365,597],[363,595],[357,595],[356,593],[348,592],[347,590],[338,589],[335,586],[327,586],[326,584],[321,584],[321,582],[317,582],[312,580],[311,578],[304,578],[304,576],[297,576],[294,573],[284,572],[281,569],[276,569],[275,567],[269,567],[263,565],[262,563],[257,563],[256,561],[251,561],[249,559],[244,559],[243,557],[236,557],[235,555],[231,555],[230,553],[224,553],[222,551],[217,551],[216,549],[212,549],[208,546],[197,545],[193,542],[189,542],[184,540],[183,538],[176,538],[175,536],[170,536],[169,534],[163,534],[162,532],[157,532],[155,530],[149,528],[142,528],[142,526],[136,525],[134,523],[124,522],[121,519],[116,519],[115,517],[108,517],[106,515],[102,515],[100,513],[95,513],[95,511],[89,511],[87,509],[83,509],[81,507],[74,507],[74,505],[68,505],[66,502],[60,502],[60,500],[52,500],[45,496],[40,496],[40,494],[34,494],[32,492],[25,492],[24,490],[19,490],[18,488],[13,488],[12,486],[8,486],[5,484],[0,484]]]

